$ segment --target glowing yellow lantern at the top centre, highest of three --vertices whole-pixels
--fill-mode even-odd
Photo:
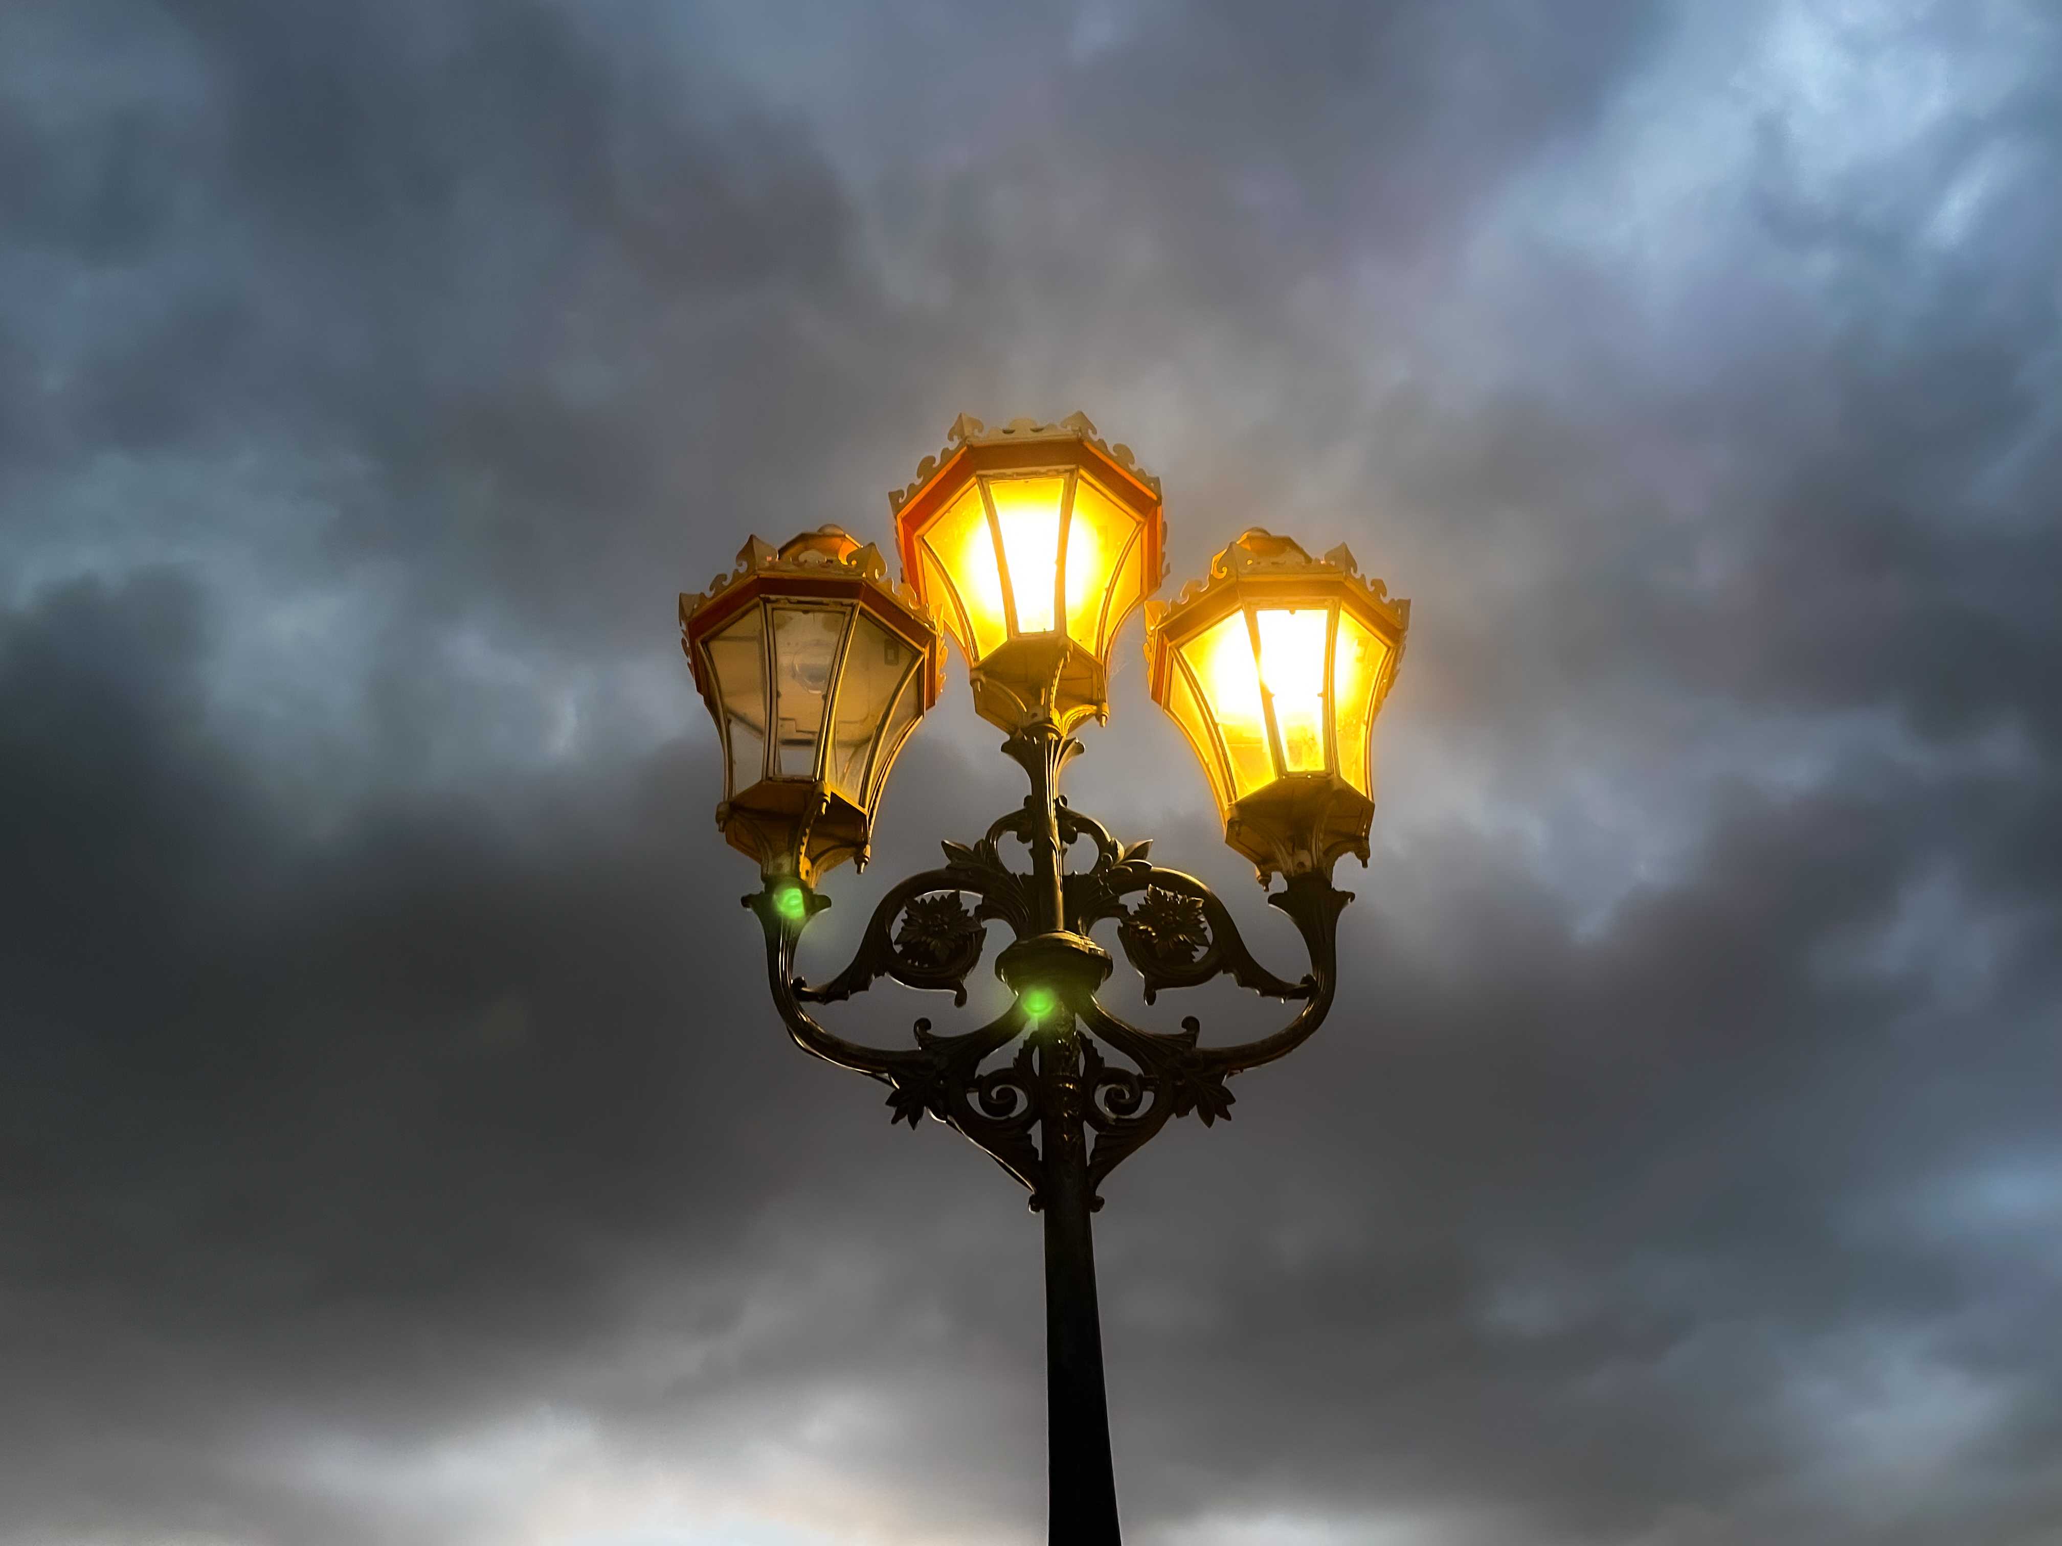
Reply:
[[[1017,732],[1109,713],[1109,651],[1159,590],[1159,478],[1080,414],[988,431],[961,414],[889,495],[903,575],[959,639],[973,709]]]

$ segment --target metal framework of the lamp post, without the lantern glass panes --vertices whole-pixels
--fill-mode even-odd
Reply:
[[[891,495],[891,509],[899,517],[922,519],[922,499],[932,497],[940,478],[967,476],[973,458],[1006,458],[1008,464],[1023,466],[1037,460],[1043,466],[1054,447],[1064,445],[1070,447],[1068,456],[1101,458],[1132,480],[1146,522],[1140,540],[1151,542],[1149,590],[1159,583],[1159,480],[1140,472],[1126,447],[1097,439],[1087,418],[1074,414],[1060,425],[1012,421],[990,433],[979,421],[961,416],[951,441],[942,464],[926,458],[918,480]],[[918,526],[913,519],[899,519],[897,526],[905,563],[913,563],[911,532]],[[854,552],[856,542],[831,528],[804,534],[777,554],[765,544],[749,544],[740,554],[738,577],[751,575],[753,583],[763,577],[769,596],[790,587],[806,592],[810,575],[819,571],[817,548],[823,550],[821,561],[850,563],[868,581],[880,581],[872,548]],[[794,563],[788,563],[790,554]],[[1219,604],[1210,594],[1215,585],[1229,585],[1225,600],[1231,604],[1250,573],[1252,583],[1274,585],[1287,581],[1291,571],[1322,585],[1355,575],[1344,548],[1311,561],[1285,538],[1248,532],[1212,563],[1204,594],[1190,587],[1171,612],[1149,608],[1146,647],[1155,660],[1155,697],[1163,688],[1165,641],[1186,637],[1184,618],[1196,614],[1198,602],[1210,608]],[[734,583],[736,577],[718,577],[711,598]],[[1355,606],[1384,608],[1382,616],[1394,623],[1390,637],[1400,653],[1408,602],[1386,602],[1377,581],[1355,577],[1353,583],[1365,592],[1365,600],[1357,596]],[[889,606],[918,598],[905,594],[901,602],[872,600]],[[1058,602],[1064,598],[1056,596]],[[703,598],[683,598],[683,627],[691,633],[701,604]],[[934,672],[938,664],[940,656],[934,653],[926,668]],[[1367,796],[1353,792],[1361,804],[1346,812],[1344,827],[1334,833],[1324,812],[1318,812],[1303,820],[1318,820],[1313,835],[1297,843],[1276,841],[1274,835],[1262,843],[1248,833],[1260,831],[1256,812],[1237,806],[1227,812],[1233,818],[1227,820],[1227,843],[1256,862],[1262,880],[1270,870],[1283,874],[1283,888],[1268,895],[1268,903],[1295,923],[1309,956],[1303,975],[1278,977],[1245,946],[1231,911],[1210,886],[1182,870],[1153,864],[1151,841],[1120,843],[1107,827],[1074,810],[1060,794],[1062,771],[1083,750],[1072,728],[1085,715],[1099,717],[1107,709],[1099,688],[1103,662],[1093,664],[1095,691],[1074,701],[1056,695],[1056,678],[1004,682],[994,672],[986,680],[990,697],[984,701],[984,672],[971,672],[975,709],[1008,732],[1002,750],[1023,769],[1029,794],[977,841],[944,843],[942,866],[891,886],[843,971],[821,983],[796,975],[796,946],[810,921],[831,905],[817,888],[817,864],[786,858],[763,862],[765,884],[742,899],[765,932],[767,987],[796,1045],[887,1084],[893,1121],[916,1128],[930,1115],[959,1132],[1029,1191],[1031,1210],[1043,1218],[1052,1546],[1118,1546],[1120,1540],[1091,1229],[1091,1216],[1103,1206],[1101,1185],[1167,1121],[1196,1115],[1210,1125],[1229,1117],[1233,1097],[1227,1080],[1287,1057],[1324,1022],[1338,992],[1338,917],[1353,901],[1353,893],[1332,886],[1332,864],[1342,851],[1359,851],[1365,860],[1367,814],[1373,810]],[[1330,680],[1330,662],[1326,670]],[[1388,674],[1394,676],[1394,658]],[[934,676],[926,678],[926,707],[936,693],[934,684]],[[1388,680],[1382,688],[1388,688]],[[1330,744],[1336,728],[1328,726],[1326,736]],[[817,767],[823,769],[821,754]],[[1281,785],[1291,804],[1305,787],[1328,798],[1316,783],[1287,779]],[[827,851],[821,868],[847,853],[864,864],[864,827],[876,794],[870,789],[868,810],[858,812],[860,831],[845,847]],[[726,822],[726,831],[730,827],[736,827],[734,818]],[[1023,845],[1021,868],[1004,862],[1006,839]],[[751,845],[757,843],[769,855],[781,847],[767,843],[757,831],[732,833],[732,841],[746,851],[755,851]],[[1091,858],[1085,868],[1070,872],[1068,858],[1083,843]],[[806,835],[792,837],[781,853],[790,849],[806,860]],[[1182,1018],[1179,1029],[1132,1024],[1099,998],[1116,961],[1091,934],[1111,919],[1149,1006],[1163,989],[1231,977],[1264,998],[1295,1004],[1295,1012],[1270,1035],[1229,1047],[1202,1045],[1202,1029],[1194,1016]],[[928,1018],[920,1018],[911,1045],[874,1047],[847,1041],[817,1020],[814,1006],[850,1000],[883,977],[905,987],[949,992],[963,1006],[967,977],[988,950],[990,923],[1002,923],[1012,936],[998,952],[994,971],[1015,998],[988,1024],[942,1035]]]

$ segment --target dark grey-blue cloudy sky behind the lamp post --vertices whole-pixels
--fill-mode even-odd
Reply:
[[[1128,1540],[2062,1538],[2058,188],[2048,0],[0,4],[0,1544],[1043,1540],[674,592],[1076,408],[1415,600],[1332,1020],[1105,1187]]]

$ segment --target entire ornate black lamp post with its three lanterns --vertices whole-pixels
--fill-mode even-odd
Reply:
[[[1118,843],[1058,792],[1080,750],[1070,732],[1109,713],[1116,635],[1161,581],[1159,480],[1080,414],[998,431],[961,414],[889,505],[907,587],[887,581],[870,544],[827,526],[781,548],[753,538],[736,573],[680,598],[683,647],[724,740],[716,818],[759,860],[763,886],[744,905],[765,930],[767,981],[794,1041],[887,1084],[895,1121],[916,1128],[928,1113],[967,1136],[1043,1214],[1050,1540],[1105,1546],[1118,1542],[1118,1497],[1089,1216],[1109,1171],[1169,1117],[1229,1117],[1225,1080],[1287,1055],[1330,1010],[1338,913],[1353,901],[1332,888],[1332,864],[1367,860],[1369,734],[1410,602],[1361,579],[1342,546],[1311,559],[1256,528],[1173,606],[1146,606],[1155,703],[1196,748],[1225,841],[1262,884],[1283,876],[1268,903],[1309,952],[1291,981],[1252,956],[1208,886],[1153,864],[1149,841]],[[831,905],[819,880],[843,860],[864,866],[889,767],[936,703],[934,618],[1031,794],[979,841],[944,843],[940,868],[880,899],[852,965],[804,983],[796,942]],[[1027,870],[1004,864],[1006,837]],[[1093,858],[1070,870],[1080,839]],[[1089,936],[1109,919],[1149,1004],[1229,975],[1297,1010],[1231,1047],[1202,1045],[1194,1016],[1177,1031],[1128,1024],[1097,1000],[1113,961]],[[878,977],[965,1004],[990,921],[1015,936],[996,959],[1015,998],[992,1022],[940,1035],[918,1020],[916,1045],[889,1049],[845,1041],[810,1012]]]

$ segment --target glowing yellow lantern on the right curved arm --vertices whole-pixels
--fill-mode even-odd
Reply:
[[[1188,734],[1225,841],[1268,874],[1367,862],[1369,738],[1396,680],[1410,602],[1344,548],[1311,559],[1254,528],[1182,598],[1146,606],[1153,701]]]

